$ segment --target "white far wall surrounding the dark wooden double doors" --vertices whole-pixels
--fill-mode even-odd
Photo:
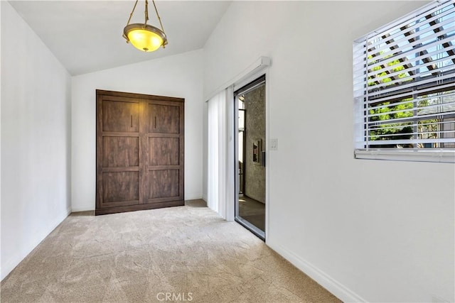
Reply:
[[[95,209],[96,89],[185,98],[185,199],[202,197],[202,55],[196,50],[73,77],[73,211]]]

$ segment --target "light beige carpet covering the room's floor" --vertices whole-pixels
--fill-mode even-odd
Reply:
[[[339,302],[203,203],[72,214],[1,282],[1,302]]]

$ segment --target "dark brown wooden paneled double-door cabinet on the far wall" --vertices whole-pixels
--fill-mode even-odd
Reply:
[[[95,214],[184,204],[183,102],[97,90]]]

